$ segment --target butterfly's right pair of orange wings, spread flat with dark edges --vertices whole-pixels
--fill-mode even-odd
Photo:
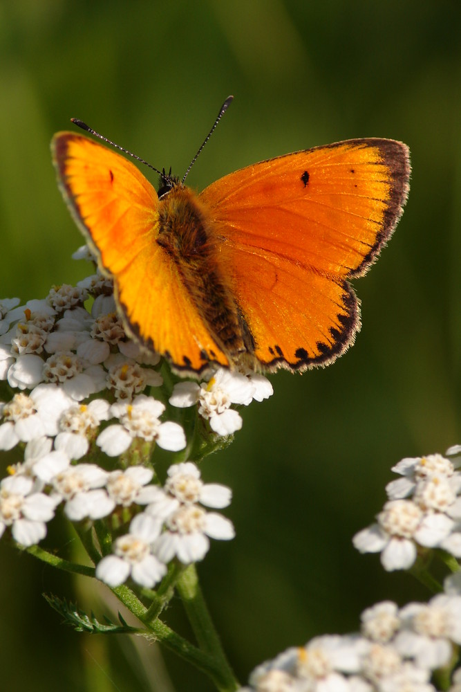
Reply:
[[[209,185],[232,290],[264,368],[325,365],[352,343],[366,273],[402,214],[408,149],[348,140],[263,161]]]

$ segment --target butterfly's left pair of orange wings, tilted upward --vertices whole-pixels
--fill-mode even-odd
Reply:
[[[101,270],[114,277],[129,333],[180,370],[203,370],[204,352],[228,365],[156,242],[158,196],[149,181],[123,156],[79,134],[58,133],[52,149],[64,199]]]

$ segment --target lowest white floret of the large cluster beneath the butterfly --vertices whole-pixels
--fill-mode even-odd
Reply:
[[[120,586],[131,575],[146,588],[153,586],[167,573],[167,567],[151,554],[151,545],[160,533],[161,524],[141,513],[130,524],[129,534],[115,540],[113,555],[102,558],[96,567],[97,579],[111,588]]]

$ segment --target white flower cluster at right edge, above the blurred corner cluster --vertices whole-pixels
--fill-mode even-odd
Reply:
[[[461,557],[461,446],[445,456],[402,459],[402,476],[386,486],[388,502],[377,522],[359,531],[353,543],[362,553],[380,552],[385,570],[408,570],[419,551],[441,548]]]

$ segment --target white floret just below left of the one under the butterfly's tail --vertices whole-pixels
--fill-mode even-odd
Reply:
[[[167,421],[160,422],[164,405],[144,394],[135,397],[132,403],[115,403],[111,414],[120,420],[120,425],[108,426],[97,437],[96,444],[110,457],[125,452],[136,437],[156,443],[169,451],[184,449],[186,438],[181,426]]]

